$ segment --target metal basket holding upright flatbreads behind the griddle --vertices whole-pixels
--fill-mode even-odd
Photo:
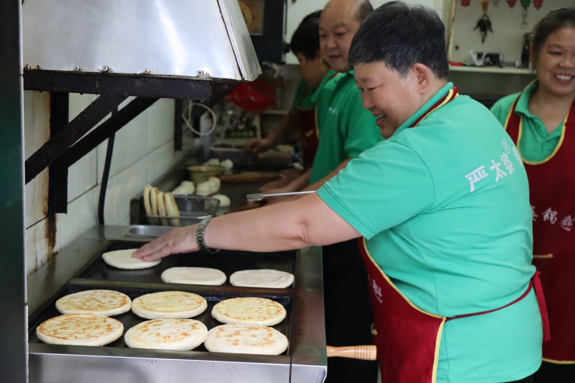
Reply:
[[[151,215],[146,214],[149,225],[158,226],[187,226],[200,222],[200,220],[214,216],[220,200],[195,194],[174,194],[179,210],[177,215]]]

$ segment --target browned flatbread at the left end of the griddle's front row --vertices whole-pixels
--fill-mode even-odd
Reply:
[[[95,314],[64,314],[36,327],[38,339],[52,345],[104,346],[122,336],[117,319]]]

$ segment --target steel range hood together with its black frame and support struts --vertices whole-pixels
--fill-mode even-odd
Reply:
[[[56,133],[26,160],[26,183],[128,96],[124,116],[75,144],[75,158],[159,98],[213,105],[262,73],[237,0],[22,0],[22,52],[24,89],[51,92],[51,109],[63,111],[51,115],[67,118],[60,94],[100,95],[74,120],[52,121]],[[65,200],[54,206],[66,211]]]

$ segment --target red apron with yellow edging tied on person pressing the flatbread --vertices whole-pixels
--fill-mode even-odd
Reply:
[[[494,310],[459,315],[451,318],[421,310],[412,303],[371,258],[365,238],[359,238],[359,249],[366,264],[373,306],[373,337],[382,382],[435,383],[439,363],[439,343],[443,325],[448,320],[488,314],[522,300],[535,285],[541,312],[545,312],[538,273],[522,296]],[[543,321],[545,324],[545,320]],[[546,337],[548,328],[544,326]]]

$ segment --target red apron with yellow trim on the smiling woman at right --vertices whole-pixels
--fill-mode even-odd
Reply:
[[[519,98],[517,98],[518,100]],[[522,117],[509,111],[505,129],[517,148]],[[545,160],[523,158],[533,210],[533,264],[541,272],[553,339],[543,343],[543,360],[575,363],[575,103],[559,144]],[[559,150],[564,148],[563,150]]]

